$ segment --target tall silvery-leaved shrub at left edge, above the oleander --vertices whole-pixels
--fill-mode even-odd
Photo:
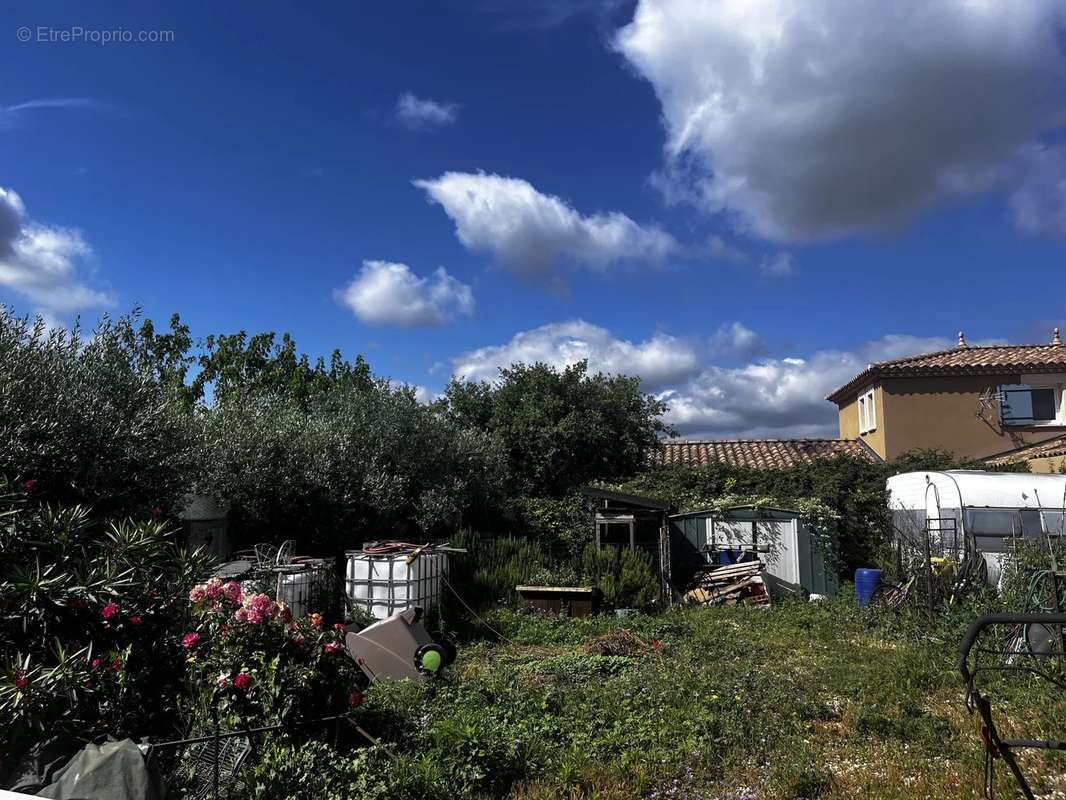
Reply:
[[[84,338],[0,306],[0,474],[54,501],[147,517],[196,474],[196,429],[136,348],[135,317]]]

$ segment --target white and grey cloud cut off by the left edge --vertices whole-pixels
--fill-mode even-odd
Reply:
[[[70,228],[42,225],[26,214],[21,197],[0,187],[0,287],[29,300],[49,317],[111,305],[78,272],[92,249]]]

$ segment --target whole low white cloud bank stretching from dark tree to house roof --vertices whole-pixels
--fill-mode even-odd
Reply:
[[[516,363],[562,368],[587,359],[593,372],[640,375],[644,389],[669,405],[667,421],[687,436],[836,437],[837,410],[825,400],[829,391],[873,362],[954,345],[952,338],[892,335],[852,350],[766,357],[765,342],[741,322],[723,324],[701,347],[662,333],[634,342],[574,320],[464,353],[452,366],[456,377],[491,381],[500,368]],[[739,366],[723,366],[738,359]]]

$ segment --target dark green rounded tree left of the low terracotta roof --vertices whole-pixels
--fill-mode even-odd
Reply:
[[[453,380],[440,402],[451,419],[500,443],[516,497],[632,476],[667,432],[665,404],[641,391],[640,379],[588,374],[585,362],[516,364],[491,383]]]

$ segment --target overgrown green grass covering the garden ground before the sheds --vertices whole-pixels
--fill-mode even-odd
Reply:
[[[950,631],[886,629],[844,597],[624,620],[500,611],[488,622],[508,641],[468,642],[437,687],[368,693],[364,725],[400,757],[359,752],[349,772],[360,774],[360,797],[981,796],[979,722]],[[620,627],[647,649],[587,646]],[[1031,733],[1066,732],[1061,700],[1008,697],[1010,718]],[[1025,763],[1038,788],[1062,788],[1066,764]],[[1005,778],[1000,791],[1015,796]]]

